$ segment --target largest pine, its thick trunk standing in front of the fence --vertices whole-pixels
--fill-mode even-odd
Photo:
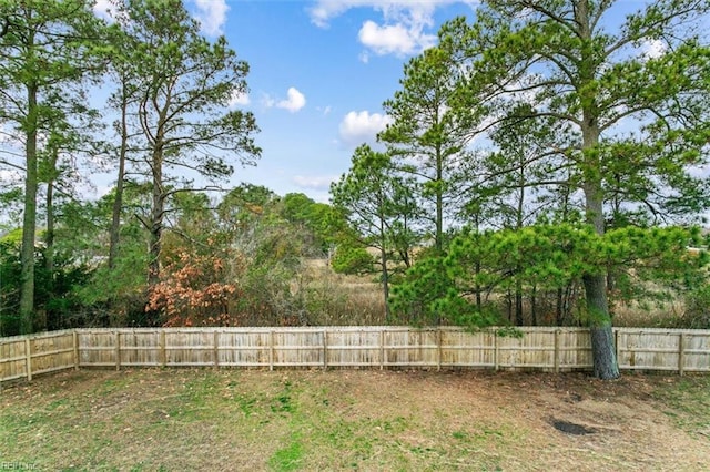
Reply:
[[[691,28],[710,4],[660,0],[618,22],[612,16],[620,3],[491,0],[462,42],[478,45],[469,48],[467,86],[495,86],[501,104],[532,102],[530,119],[552,120],[564,141],[549,147],[568,160],[598,235],[612,195],[656,217],[697,214],[708,203],[707,186],[688,168],[702,162],[710,129],[710,51]],[[645,44],[662,48],[648,54]],[[626,131],[622,124],[632,121],[637,126]],[[606,273],[582,280],[595,374],[613,379]]]

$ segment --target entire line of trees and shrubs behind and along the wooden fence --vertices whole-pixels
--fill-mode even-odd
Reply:
[[[617,377],[617,307],[710,298],[687,250],[707,245],[710,6],[620,3],[488,0],[446,22],[327,205],[220,192],[261,155],[229,106],[248,64],[182,1],[116,0],[103,21],[2,0],[0,198],[22,218],[0,242],[2,334],[315,324],[333,290],[306,261],[326,257],[377,277],[385,322],[586,325],[595,373]],[[103,170],[112,192],[83,202]]]

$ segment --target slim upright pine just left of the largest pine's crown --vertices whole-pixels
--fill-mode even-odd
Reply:
[[[466,145],[476,135],[480,106],[476,98],[457,93],[459,69],[445,47],[432,48],[413,58],[404,68],[402,90],[384,109],[393,119],[378,140],[397,160],[396,167],[417,183],[417,198],[427,209],[425,219],[434,247],[444,250],[445,218],[462,188],[470,154]],[[433,230],[432,230],[433,228]]]

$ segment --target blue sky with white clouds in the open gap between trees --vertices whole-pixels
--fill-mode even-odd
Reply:
[[[264,185],[328,201],[354,150],[374,143],[388,117],[404,64],[435,44],[446,20],[471,17],[473,1],[185,0],[209,39],[224,34],[250,64],[251,111],[261,132],[255,167],[237,166],[230,185]],[[99,2],[97,9],[102,8]],[[109,187],[99,186],[99,193]]]

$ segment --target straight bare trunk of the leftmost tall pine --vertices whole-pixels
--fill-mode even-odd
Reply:
[[[37,228],[37,105],[38,86],[27,86],[28,113],[26,130],[24,213],[22,216],[22,249],[20,253],[20,334],[33,331],[34,318],[34,236]]]

